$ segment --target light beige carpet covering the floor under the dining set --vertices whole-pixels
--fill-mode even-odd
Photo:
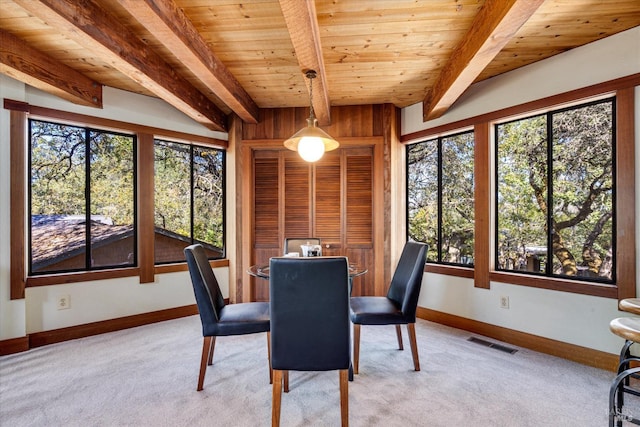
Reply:
[[[419,320],[422,371],[389,326],[362,328],[352,426],[604,426],[612,372]],[[489,340],[495,342],[494,340]],[[2,426],[268,426],[266,336],[222,337],[196,392],[197,316],[0,358]],[[512,347],[512,346],[509,346]],[[340,423],[337,372],[291,373],[283,426]]]

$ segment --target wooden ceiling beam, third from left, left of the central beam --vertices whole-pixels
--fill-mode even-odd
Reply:
[[[173,0],[118,0],[118,3],[238,117],[248,123],[258,122],[258,106]]]

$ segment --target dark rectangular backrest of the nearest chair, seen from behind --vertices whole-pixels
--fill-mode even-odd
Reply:
[[[329,371],[350,364],[346,257],[271,258],[273,369]]]

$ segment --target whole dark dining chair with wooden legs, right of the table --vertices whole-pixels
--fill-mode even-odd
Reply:
[[[358,373],[361,325],[395,325],[400,350],[404,349],[400,325],[407,325],[413,365],[416,371],[420,370],[415,324],[426,256],[427,245],[407,242],[386,296],[351,297],[354,373]]]

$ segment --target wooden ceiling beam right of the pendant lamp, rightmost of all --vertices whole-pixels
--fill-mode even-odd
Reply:
[[[422,102],[423,120],[442,116],[544,0],[486,1]]]

